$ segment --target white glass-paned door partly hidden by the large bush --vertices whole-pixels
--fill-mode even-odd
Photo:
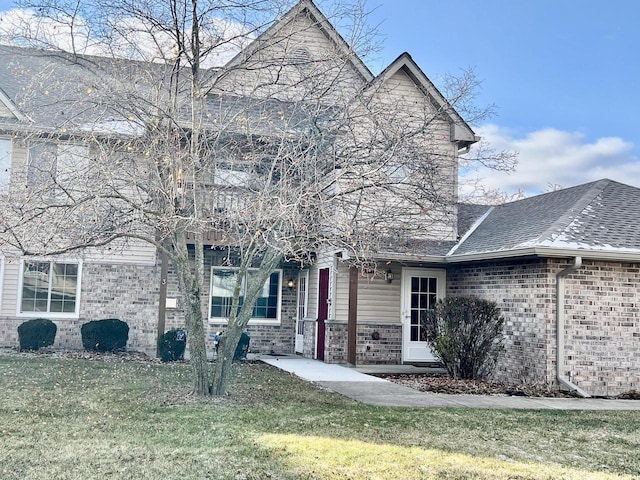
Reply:
[[[405,268],[402,270],[402,361],[437,361],[422,332],[424,312],[444,297],[444,270]]]

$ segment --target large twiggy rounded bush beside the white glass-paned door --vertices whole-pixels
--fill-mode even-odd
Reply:
[[[423,320],[423,333],[451,377],[480,380],[491,373],[504,349],[504,319],[495,302],[449,297]]]

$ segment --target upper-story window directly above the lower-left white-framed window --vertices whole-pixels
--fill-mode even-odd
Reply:
[[[29,145],[27,186],[53,187],[80,180],[89,160],[89,148],[72,143],[35,142]]]

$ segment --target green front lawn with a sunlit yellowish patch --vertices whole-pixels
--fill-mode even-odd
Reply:
[[[640,478],[640,412],[373,407],[262,364],[0,355],[0,478]]]

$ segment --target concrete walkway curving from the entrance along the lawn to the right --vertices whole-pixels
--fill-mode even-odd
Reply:
[[[389,407],[517,408],[547,410],[640,410],[639,400],[541,398],[508,395],[446,395],[419,392],[354,368],[297,356],[259,360],[358,402]],[[374,369],[375,370],[375,369]]]

